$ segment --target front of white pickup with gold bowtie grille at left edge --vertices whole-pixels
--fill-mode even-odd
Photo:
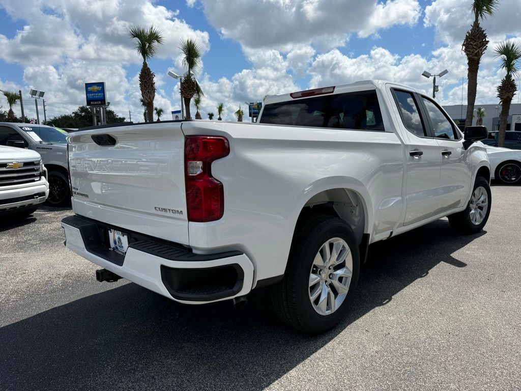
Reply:
[[[28,216],[48,195],[47,170],[40,154],[0,145],[0,219]]]

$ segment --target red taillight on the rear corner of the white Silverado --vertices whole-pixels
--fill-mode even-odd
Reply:
[[[224,190],[212,177],[212,162],[230,153],[224,137],[186,136],[184,138],[184,178],[188,220],[208,222],[224,214]]]

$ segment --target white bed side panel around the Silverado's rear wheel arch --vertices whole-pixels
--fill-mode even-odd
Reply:
[[[357,192],[371,235],[390,231],[402,212],[403,148],[392,132],[208,121],[183,123],[182,130],[224,136],[231,150],[212,164],[224,185],[224,216],[190,222],[190,246],[242,250],[256,279],[284,273],[297,217],[321,191]]]

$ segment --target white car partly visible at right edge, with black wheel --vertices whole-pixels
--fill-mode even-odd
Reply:
[[[507,185],[521,184],[521,151],[486,146],[492,179]]]

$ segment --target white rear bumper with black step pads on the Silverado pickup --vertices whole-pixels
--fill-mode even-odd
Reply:
[[[227,300],[244,296],[252,288],[253,264],[239,251],[194,254],[175,243],[135,234],[126,254],[120,255],[104,245],[105,224],[70,216],[61,221],[61,226],[65,229],[66,246],[73,252],[178,302]]]

